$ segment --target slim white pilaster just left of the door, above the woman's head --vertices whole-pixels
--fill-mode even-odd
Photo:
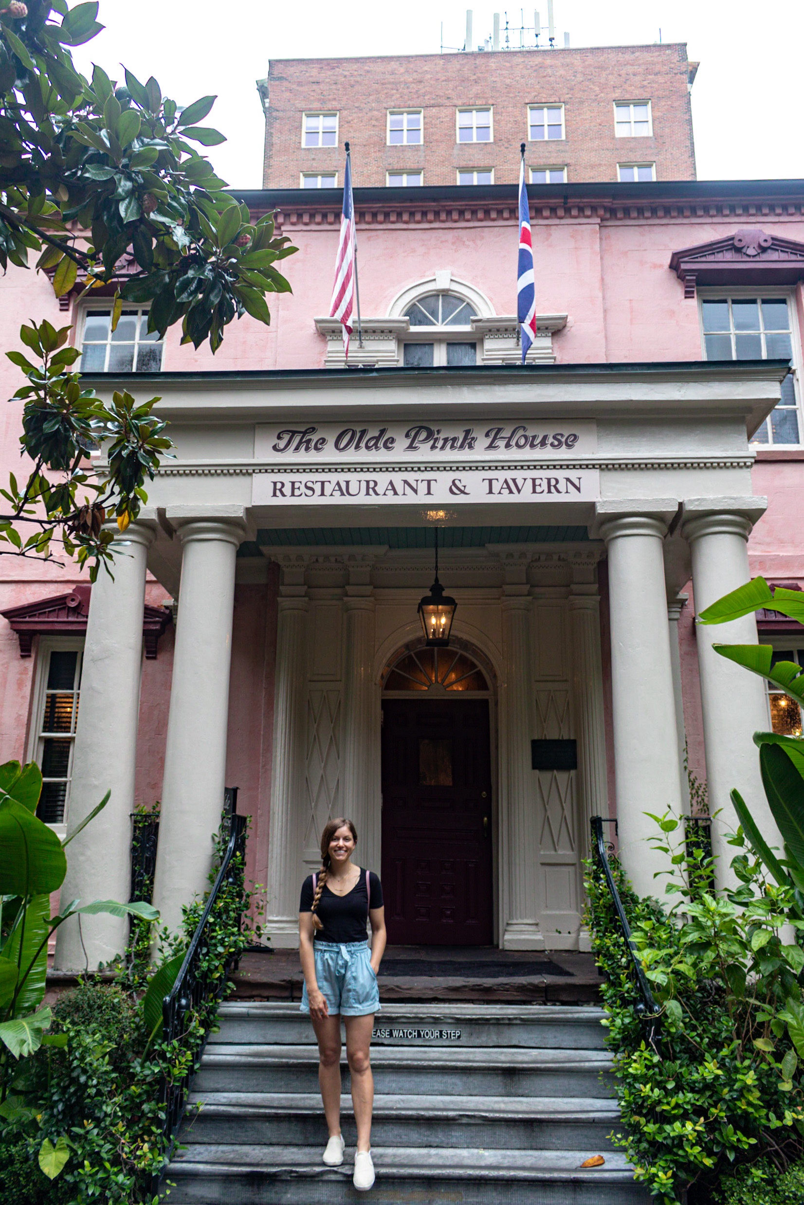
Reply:
[[[380,800],[375,782],[376,709],[372,682],[375,602],[370,587],[346,587],[346,649],[341,712],[341,807],[358,831],[357,860],[380,874]]]

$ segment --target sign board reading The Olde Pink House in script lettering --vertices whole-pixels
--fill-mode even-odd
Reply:
[[[594,455],[597,424],[588,418],[464,423],[258,424],[254,457],[277,464],[522,464]]]

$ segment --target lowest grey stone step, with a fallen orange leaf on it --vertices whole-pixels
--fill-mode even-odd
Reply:
[[[363,1198],[352,1186],[353,1151],[341,1168],[324,1168],[321,1145],[199,1146],[168,1169],[171,1205],[342,1205]],[[620,1152],[601,1168],[580,1164],[597,1154],[573,1151],[489,1151],[480,1147],[372,1150],[378,1205],[650,1205]]]

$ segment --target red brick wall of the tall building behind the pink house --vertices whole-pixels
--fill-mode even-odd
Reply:
[[[567,165],[568,180],[615,181],[617,163],[656,163],[657,180],[694,180],[685,45],[589,49],[280,59],[268,77],[266,188],[298,188],[303,171],[338,171],[352,145],[354,186],[381,187],[388,170],[423,170],[423,183],[456,184],[458,167],[518,178],[529,104],[562,102],[565,139],[528,142],[529,167]],[[650,100],[651,137],[615,137],[614,102]],[[494,141],[456,142],[456,108],[493,106]],[[422,108],[424,142],[387,146],[389,108]],[[336,147],[303,148],[306,112],[339,111]]]

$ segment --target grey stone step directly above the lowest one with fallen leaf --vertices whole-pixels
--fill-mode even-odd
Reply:
[[[354,1145],[352,1101],[341,1100],[344,1135]],[[615,1101],[597,1097],[386,1095],[374,1100],[372,1140],[382,1147],[513,1151],[611,1150]],[[321,1146],[317,1092],[193,1092],[182,1144]]]

